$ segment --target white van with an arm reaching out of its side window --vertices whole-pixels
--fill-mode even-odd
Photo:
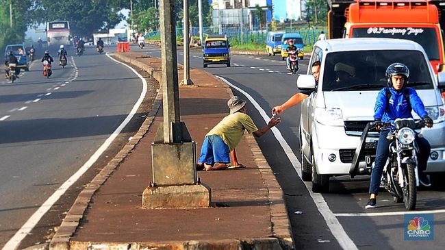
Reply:
[[[421,130],[431,144],[427,172],[434,184],[435,173],[445,172],[445,106],[422,47],[409,40],[385,38],[322,40],[314,45],[309,65],[316,61],[321,62],[318,86],[310,66],[307,75],[297,79],[300,90],[313,90],[301,103],[300,119],[301,176],[312,182],[312,190],[326,192],[329,177],[350,174],[360,136],[373,121],[377,93],[386,86],[386,68],[394,62],[408,66],[407,86],[416,89],[434,121],[431,129]],[[445,79],[442,74],[439,78]],[[368,137],[369,156],[359,159],[363,175],[370,173],[378,134]]]

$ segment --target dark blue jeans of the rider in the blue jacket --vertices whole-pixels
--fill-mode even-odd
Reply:
[[[386,136],[389,131],[383,131],[380,133],[379,142],[377,142],[377,153],[374,163],[374,168],[371,172],[371,183],[369,186],[369,193],[374,195],[379,195],[379,186],[383,167],[385,166],[386,160],[390,154],[390,140],[387,140]],[[427,168],[427,162],[429,158],[429,153],[431,151],[431,146],[427,139],[423,137],[416,136],[416,143],[418,145],[419,151],[417,154],[418,171],[419,173]]]

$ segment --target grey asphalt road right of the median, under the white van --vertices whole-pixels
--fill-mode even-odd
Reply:
[[[149,46],[145,51],[149,55],[160,56],[157,47]],[[300,62],[300,73],[306,72],[307,59]],[[183,62],[182,51],[179,51],[178,60],[179,63]],[[268,115],[273,106],[283,103],[296,92],[296,76],[285,70],[285,62],[281,61],[279,56],[232,55],[231,63],[230,68],[225,65],[209,65],[208,68],[202,68],[202,54],[190,53],[191,67],[202,68],[227,79],[234,86],[232,90],[235,95],[246,99],[246,95],[235,88],[243,90],[253,97]],[[247,108],[259,127],[266,125],[264,118],[251,102],[248,102]],[[379,195],[379,208],[365,210],[369,177],[331,178],[329,193],[318,195],[310,192],[307,189],[309,182],[303,182],[298,177],[289,160],[289,155],[292,154],[301,159],[298,145],[299,111],[299,107],[286,110],[281,114],[282,122],[277,127],[292,153],[285,152],[272,133],[257,138],[259,147],[285,194],[296,249],[342,249],[339,242],[342,242],[344,249],[443,249],[443,190],[428,189],[418,192],[415,212],[424,214],[427,211],[433,214],[433,241],[404,240],[406,211],[403,203],[393,203],[392,197],[383,190]],[[242,159],[240,161],[242,162]],[[327,206],[323,207],[323,203]],[[303,214],[298,214],[298,211]]]

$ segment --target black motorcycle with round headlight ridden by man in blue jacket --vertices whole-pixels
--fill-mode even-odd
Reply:
[[[422,127],[425,127],[424,121],[414,121],[413,118],[397,118],[393,124],[386,123],[381,128],[381,131],[389,131],[386,138],[391,141],[390,154],[383,167],[381,186],[390,192],[395,203],[405,203],[407,210],[416,209],[419,177],[416,158],[418,146],[416,145],[415,130]],[[357,173],[361,151],[369,153],[370,144],[366,142],[366,137],[368,131],[372,129],[375,129],[375,125],[369,123],[361,136],[361,145],[356,149],[353,157],[353,173]],[[377,143],[375,146],[377,146]],[[370,163],[371,158],[368,155],[366,156],[366,164]],[[373,166],[374,163],[371,165]],[[370,169],[368,172],[370,172]]]

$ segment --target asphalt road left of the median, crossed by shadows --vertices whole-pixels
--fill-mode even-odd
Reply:
[[[57,57],[55,51],[51,55]],[[80,57],[73,54],[68,50],[66,68],[55,58],[49,79],[42,76],[42,64],[34,61],[14,84],[0,81],[0,248],[86,164],[140,99],[142,81],[128,68],[92,48]],[[127,133],[137,129],[131,127]],[[74,185],[75,190],[88,183],[97,169],[90,172]],[[73,192],[71,202],[75,197]],[[66,199],[50,212],[66,212]],[[60,221],[49,219],[40,227],[57,225]]]

